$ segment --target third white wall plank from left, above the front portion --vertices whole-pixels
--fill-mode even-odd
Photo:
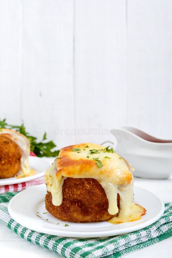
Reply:
[[[95,128],[76,142],[101,143],[125,124],[124,0],[76,0],[74,69],[76,128]]]

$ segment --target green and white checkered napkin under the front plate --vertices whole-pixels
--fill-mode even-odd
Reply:
[[[172,236],[172,203],[165,203],[163,216],[154,224],[129,234],[91,239],[43,234],[23,227],[9,216],[8,202],[17,193],[0,195],[0,222],[27,241],[64,257],[121,257]]]

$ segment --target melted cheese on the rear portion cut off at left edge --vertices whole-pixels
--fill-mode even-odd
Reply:
[[[15,177],[21,178],[36,174],[35,169],[29,169],[30,143],[28,139],[23,134],[5,128],[0,129],[0,134],[15,142],[20,148],[22,154],[20,158],[20,170]]]

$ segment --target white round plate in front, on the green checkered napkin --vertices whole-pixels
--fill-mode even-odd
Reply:
[[[113,224],[104,222],[74,223],[54,218],[45,209],[46,185],[36,185],[14,196],[8,204],[10,216],[22,226],[55,236],[103,237],[125,234],[149,226],[164,212],[164,204],[153,193],[134,187],[135,203],[146,208],[140,220]],[[47,212],[47,213],[46,213]],[[59,224],[58,224],[59,223]],[[67,224],[68,226],[65,226]]]

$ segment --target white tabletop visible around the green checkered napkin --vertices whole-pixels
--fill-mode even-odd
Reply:
[[[51,162],[52,159],[49,159]],[[172,201],[172,177],[166,180],[142,179],[135,178],[135,186],[142,187],[148,191],[159,196],[165,202]],[[20,238],[17,234],[12,232],[6,226],[0,224],[0,250],[5,253],[6,257],[60,257],[56,253],[49,251],[38,245],[34,245]],[[138,250],[127,255],[128,258],[157,258],[157,257],[171,257],[172,255],[172,237],[155,243],[149,247]]]

